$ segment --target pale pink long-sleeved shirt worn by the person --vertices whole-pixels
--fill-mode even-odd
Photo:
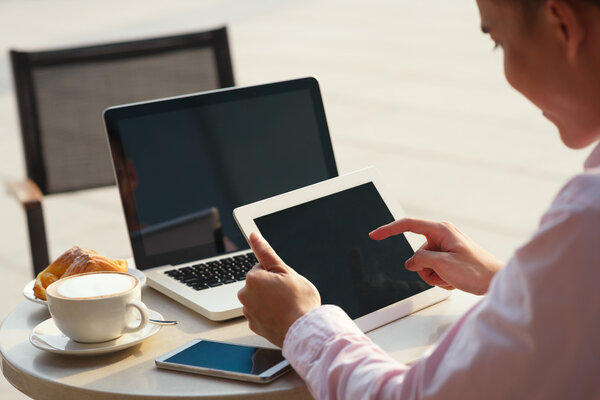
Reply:
[[[338,307],[298,319],[283,354],[318,399],[600,399],[600,145],[487,295],[410,368]]]

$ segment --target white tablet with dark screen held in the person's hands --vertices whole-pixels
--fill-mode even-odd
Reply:
[[[404,268],[423,237],[369,237],[373,229],[404,217],[375,168],[248,204],[233,214],[246,239],[259,231],[286,264],[316,286],[323,304],[340,306],[364,332],[450,295]]]

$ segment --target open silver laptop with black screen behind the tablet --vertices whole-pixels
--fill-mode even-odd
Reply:
[[[338,175],[315,78],[110,107],[104,121],[136,267],[215,321],[242,315],[257,262],[233,209]]]

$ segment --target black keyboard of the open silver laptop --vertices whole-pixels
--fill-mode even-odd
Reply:
[[[246,279],[246,273],[257,263],[254,253],[249,252],[207,263],[174,268],[164,273],[195,290],[203,290],[243,281]]]

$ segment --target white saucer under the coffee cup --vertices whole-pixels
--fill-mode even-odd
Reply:
[[[162,320],[160,313],[148,310],[150,318]],[[52,318],[38,324],[29,335],[29,341],[40,350],[57,354],[89,356],[123,350],[148,339],[160,330],[160,325],[148,324],[138,332],[126,333],[120,338],[102,343],[78,343],[65,336],[54,324]]]

